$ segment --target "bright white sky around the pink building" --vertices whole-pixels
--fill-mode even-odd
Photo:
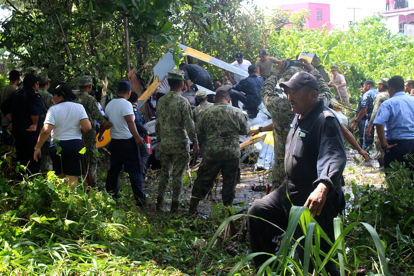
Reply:
[[[376,12],[385,10],[385,0],[250,0],[253,4],[262,9],[268,9],[281,6],[283,4],[294,4],[303,2],[330,4],[330,21],[331,24],[344,29],[348,26],[348,21],[359,21],[362,18],[373,15]],[[410,2],[409,2],[410,4]]]

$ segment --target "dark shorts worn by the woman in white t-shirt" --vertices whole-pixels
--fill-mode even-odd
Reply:
[[[52,139],[49,151],[55,173],[72,176],[86,175],[85,156],[79,153],[83,147],[84,143],[81,139],[64,140],[56,144]]]

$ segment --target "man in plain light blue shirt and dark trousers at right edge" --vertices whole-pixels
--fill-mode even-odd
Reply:
[[[381,148],[385,152],[384,167],[397,160],[413,165],[405,155],[414,153],[414,98],[404,92],[404,79],[394,76],[388,80],[390,98],[378,108],[374,119]]]

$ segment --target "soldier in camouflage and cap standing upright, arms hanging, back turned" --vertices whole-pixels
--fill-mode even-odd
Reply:
[[[172,174],[173,197],[171,212],[176,212],[178,210],[185,168],[190,158],[188,137],[193,142],[195,156],[199,152],[199,146],[191,106],[188,100],[179,94],[184,86],[184,72],[177,69],[169,72],[168,84],[171,91],[157,102],[155,132],[162,167],[159,177],[156,209],[159,211],[164,205],[165,189]]]

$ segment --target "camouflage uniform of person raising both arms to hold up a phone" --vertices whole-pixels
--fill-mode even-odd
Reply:
[[[292,68],[292,67],[291,67]],[[318,70],[309,72],[314,75],[319,84],[319,97],[322,98],[327,106],[332,99],[332,94],[324,78]],[[286,75],[289,72],[286,73]],[[282,184],[286,177],[285,173],[285,144],[286,136],[290,129],[290,123],[293,120],[292,108],[287,98],[281,98],[275,92],[276,83],[282,77],[282,74],[273,68],[267,76],[265,84],[260,92],[263,103],[270,112],[273,121],[273,138],[274,138],[274,166],[272,172],[273,188]]]

